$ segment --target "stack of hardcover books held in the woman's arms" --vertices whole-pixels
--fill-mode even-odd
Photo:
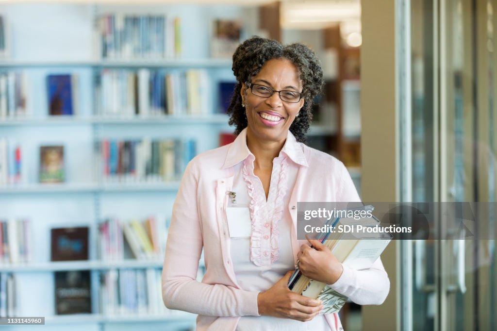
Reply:
[[[380,221],[373,217],[361,218],[335,218],[327,224],[339,229],[339,226],[357,226],[377,227]],[[378,259],[383,250],[392,240],[393,236],[389,233],[373,233],[364,231],[361,233],[321,233],[318,238],[323,245],[330,248],[336,259],[344,266],[355,270],[370,268]],[[338,312],[347,297],[334,291],[327,284],[312,280],[304,276],[299,269],[296,269],[288,282],[288,287],[293,292],[303,296],[320,299],[323,301],[324,309],[320,314],[331,314]]]

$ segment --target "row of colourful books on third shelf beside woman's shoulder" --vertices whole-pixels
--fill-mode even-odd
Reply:
[[[168,182],[178,180],[195,156],[195,141],[104,140],[101,143],[104,182]]]

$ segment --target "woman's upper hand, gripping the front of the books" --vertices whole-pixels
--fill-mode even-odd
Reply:
[[[319,240],[307,239],[314,246],[304,244],[297,253],[299,269],[304,276],[323,282],[333,284],[340,278],[343,272],[343,266],[331,250],[321,244]]]

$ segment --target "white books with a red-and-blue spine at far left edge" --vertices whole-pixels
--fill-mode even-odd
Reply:
[[[22,182],[22,153],[12,139],[0,138],[0,187]]]

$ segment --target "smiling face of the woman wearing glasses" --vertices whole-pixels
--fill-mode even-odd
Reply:
[[[290,90],[302,92],[302,82],[298,79],[297,68],[286,59],[267,61],[257,75],[252,78],[252,85],[259,84],[273,90]],[[254,88],[255,91],[255,88]],[[254,95],[245,84],[240,91],[245,103],[248,121],[248,135],[266,141],[284,141],[304,99],[291,103],[281,100],[274,92],[268,98]]]

